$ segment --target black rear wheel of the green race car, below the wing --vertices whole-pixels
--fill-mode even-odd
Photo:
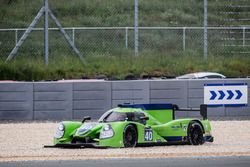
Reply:
[[[198,122],[190,122],[188,126],[188,142],[191,145],[202,145],[205,143],[202,126]]]

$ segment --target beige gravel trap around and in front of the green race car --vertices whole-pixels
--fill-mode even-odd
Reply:
[[[215,141],[201,146],[60,149],[43,147],[52,145],[58,122],[0,122],[0,161],[250,156],[250,119],[213,120],[211,124]]]

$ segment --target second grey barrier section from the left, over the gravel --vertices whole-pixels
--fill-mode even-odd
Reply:
[[[72,119],[72,83],[34,83],[34,119]]]

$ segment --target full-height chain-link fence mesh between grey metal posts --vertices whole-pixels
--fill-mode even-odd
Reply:
[[[49,0],[49,5],[83,55],[132,56],[134,1]],[[5,60],[43,0],[0,4],[0,57]],[[203,0],[139,0],[138,9],[139,55],[203,56]],[[208,54],[249,56],[249,25],[249,0],[208,1]],[[49,26],[55,27],[52,21]],[[43,27],[43,19],[36,27]],[[43,40],[43,28],[34,29],[17,56],[43,56]],[[49,53],[50,59],[74,55],[57,28],[49,29]]]

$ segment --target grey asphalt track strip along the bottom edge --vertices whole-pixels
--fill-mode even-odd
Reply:
[[[1,167],[249,167],[250,156],[0,162]]]

